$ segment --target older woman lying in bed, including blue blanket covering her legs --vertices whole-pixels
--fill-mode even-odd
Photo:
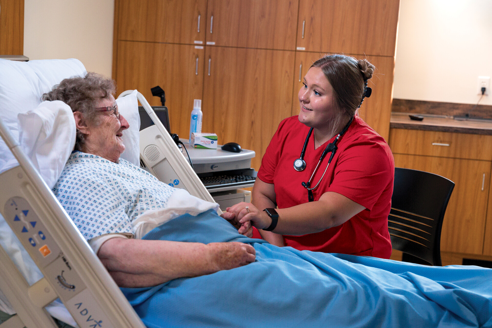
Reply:
[[[120,159],[114,91],[89,73],[43,95],[77,126],[53,191],[147,327],[492,327],[491,269],[277,247]]]

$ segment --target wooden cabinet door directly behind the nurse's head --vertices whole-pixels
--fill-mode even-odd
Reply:
[[[309,67],[323,55],[313,52],[296,52],[296,64],[294,74],[294,94],[292,96],[292,115],[299,114],[300,105],[298,93],[303,86],[304,76]],[[357,59],[365,56],[355,56]],[[359,116],[383,138],[388,140],[390,131],[391,100],[393,89],[393,67],[392,57],[367,57],[369,62],[376,66],[368,87],[372,88],[372,94],[365,98],[362,107],[359,108]]]

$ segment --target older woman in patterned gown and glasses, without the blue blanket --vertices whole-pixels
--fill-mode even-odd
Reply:
[[[245,243],[205,245],[129,238],[131,222],[147,210],[169,207],[173,194],[198,203],[203,211],[217,205],[161,183],[147,171],[120,160],[128,122],[118,112],[114,92],[112,80],[88,73],[84,78],[64,79],[43,100],[62,100],[73,110],[75,151],[54,192],[115,281],[125,287],[150,286],[253,262],[254,248]],[[234,215],[225,212],[223,216]]]

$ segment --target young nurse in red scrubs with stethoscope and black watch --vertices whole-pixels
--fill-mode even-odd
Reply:
[[[390,257],[394,159],[357,112],[370,96],[373,69],[345,55],[309,68],[299,115],[280,122],[270,141],[253,203],[228,208],[240,224],[250,221],[277,246]]]

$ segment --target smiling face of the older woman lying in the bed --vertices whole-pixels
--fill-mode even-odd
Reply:
[[[99,99],[94,103],[95,108],[114,105],[115,98],[113,96]],[[120,114],[120,119],[118,119],[113,113],[99,112],[95,124],[87,123],[85,127],[82,127],[83,123],[77,119],[75,114],[77,129],[84,133],[85,137],[82,151],[118,163],[118,159],[125,149],[122,140],[123,130],[128,129],[129,126],[123,115]]]

